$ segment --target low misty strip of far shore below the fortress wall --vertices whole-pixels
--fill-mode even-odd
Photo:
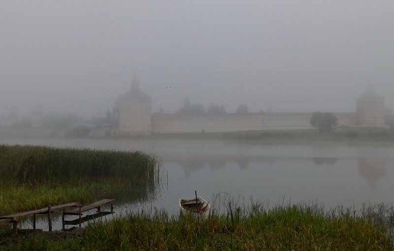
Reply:
[[[85,139],[217,139],[256,143],[307,143],[307,142],[394,142],[394,131],[347,131],[319,133],[317,130],[256,130],[223,133],[166,133],[151,135],[104,136],[108,128],[91,129],[86,137],[66,137],[70,129],[55,128],[0,128],[0,139],[6,138],[85,138]],[[112,129],[113,130],[113,129]],[[116,130],[116,129],[115,129]]]

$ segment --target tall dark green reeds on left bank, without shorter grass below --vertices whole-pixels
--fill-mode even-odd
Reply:
[[[24,185],[84,184],[126,179],[145,184],[158,176],[158,159],[141,151],[0,145],[0,180]]]

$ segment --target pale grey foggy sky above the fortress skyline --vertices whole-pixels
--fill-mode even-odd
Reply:
[[[394,1],[1,0],[0,116],[104,115],[134,72],[152,111],[394,109]],[[166,88],[171,87],[171,88]]]

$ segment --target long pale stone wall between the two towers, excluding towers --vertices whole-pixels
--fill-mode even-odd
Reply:
[[[253,130],[312,129],[312,113],[272,113],[222,116],[154,114],[152,133],[240,132]],[[338,125],[355,125],[356,113],[335,113]]]

